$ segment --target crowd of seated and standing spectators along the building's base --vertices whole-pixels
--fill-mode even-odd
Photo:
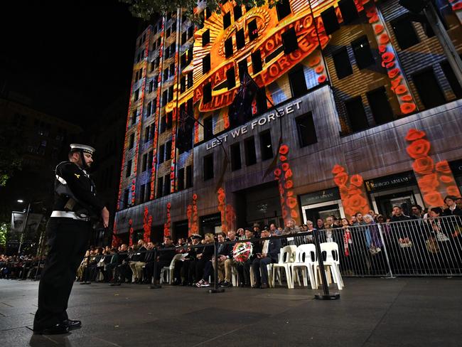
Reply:
[[[254,288],[269,287],[267,265],[278,262],[281,247],[313,243],[313,230],[318,230],[319,242],[338,244],[340,269],[345,274],[381,274],[385,269],[382,247],[387,247],[390,268],[394,273],[426,266],[462,271],[462,201],[455,196],[444,199],[445,206],[424,211],[412,205],[412,215],[404,215],[400,206],[394,206],[391,215],[377,215],[374,210],[362,215],[356,213],[349,220],[329,215],[325,219],[307,220],[295,225],[287,220],[285,228],[274,224],[264,226],[255,223],[252,228],[238,228],[227,233],[204,236],[193,234],[188,239],[173,242],[163,237],[161,245],[139,240],[136,245],[122,244],[114,247],[91,247],[77,269],[77,281],[151,284],[159,282],[164,267],[169,267],[174,257],[173,285],[209,287],[215,273],[214,242],[217,248],[217,284],[232,285],[233,269],[238,274],[238,285],[250,287],[253,272]],[[456,216],[451,222],[442,216]],[[408,223],[393,223],[393,222]],[[392,222],[392,223],[390,223]],[[296,236],[298,233],[304,235]],[[275,237],[289,235],[287,237]],[[260,237],[267,240],[258,240]],[[272,238],[274,237],[274,238]],[[224,241],[252,239],[252,255],[243,262],[236,262],[233,253],[235,243]],[[426,253],[426,254],[424,254]],[[424,254],[424,255],[423,255]],[[448,254],[456,257],[448,257]],[[420,260],[419,260],[420,259]],[[422,260],[426,264],[422,264]],[[43,262],[42,262],[43,264]],[[36,257],[0,256],[0,276],[33,278],[40,272]],[[365,271],[360,266],[367,267]],[[359,270],[358,270],[359,269]],[[359,271],[359,272],[358,272]],[[364,273],[363,273],[364,272]]]

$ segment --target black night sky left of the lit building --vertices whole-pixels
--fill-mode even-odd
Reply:
[[[117,0],[0,1],[0,92],[85,128],[129,90],[139,23]]]

